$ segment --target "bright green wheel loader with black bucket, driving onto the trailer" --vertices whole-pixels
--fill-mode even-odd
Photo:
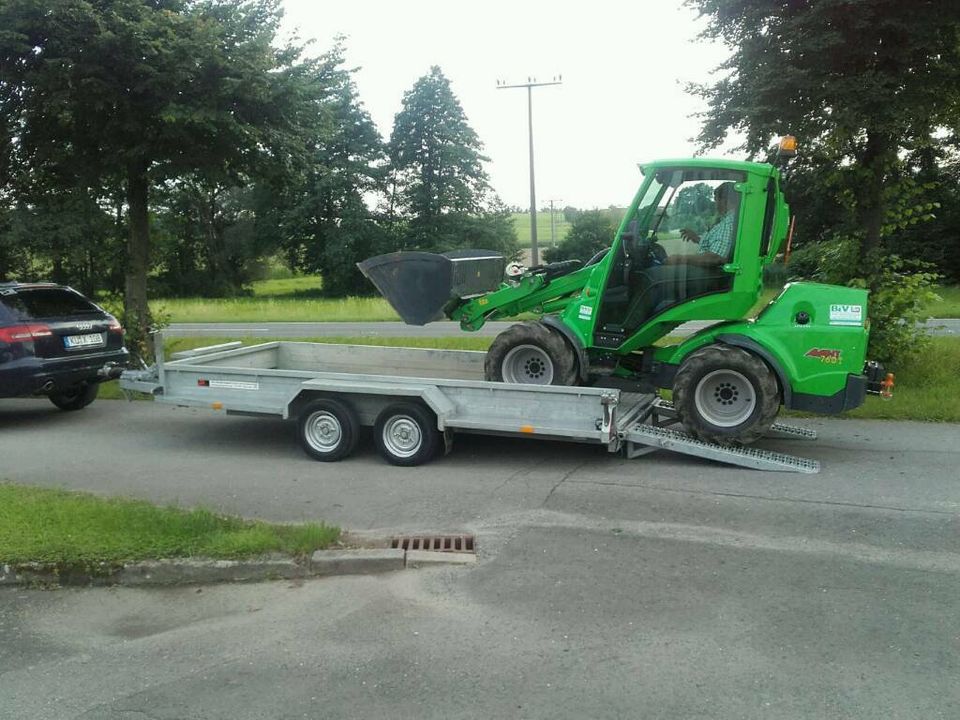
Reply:
[[[781,406],[832,414],[891,393],[892,375],[866,362],[865,290],[790,283],[745,317],[787,239],[777,166],[697,158],[641,170],[611,246],[583,262],[401,252],[360,269],[407,323],[447,317],[475,331],[539,315],[497,336],[488,380],[671,390],[679,419],[707,442],[753,442]],[[709,324],[669,342],[689,321]]]

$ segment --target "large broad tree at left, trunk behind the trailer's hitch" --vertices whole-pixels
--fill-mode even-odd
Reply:
[[[151,188],[284,165],[310,116],[309,66],[277,47],[277,0],[8,0],[0,170],[121,179],[128,327],[148,326]]]

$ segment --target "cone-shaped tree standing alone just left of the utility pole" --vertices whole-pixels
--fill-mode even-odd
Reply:
[[[509,213],[492,192],[483,143],[470,127],[450,81],[432,67],[403,96],[393,122],[391,215],[404,248],[477,247],[518,253]]]

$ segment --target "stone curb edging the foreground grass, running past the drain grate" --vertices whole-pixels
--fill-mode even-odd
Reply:
[[[317,550],[309,559],[263,557],[250,560],[147,560],[125,565],[60,566],[42,563],[0,565],[3,587],[149,587],[224,582],[260,582],[334,575],[371,575],[404,568],[471,565],[473,553],[372,548]]]

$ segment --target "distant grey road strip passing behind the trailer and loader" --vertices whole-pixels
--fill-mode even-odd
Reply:
[[[489,322],[477,335],[492,337],[506,330],[512,322]],[[674,334],[696,332],[712,323],[694,320],[684,323]],[[932,335],[960,335],[960,319],[933,319],[927,322]],[[459,323],[435,322],[429,325],[406,325],[402,322],[279,322],[279,323],[173,323],[164,329],[171,336],[203,337],[448,337],[463,334]]]

